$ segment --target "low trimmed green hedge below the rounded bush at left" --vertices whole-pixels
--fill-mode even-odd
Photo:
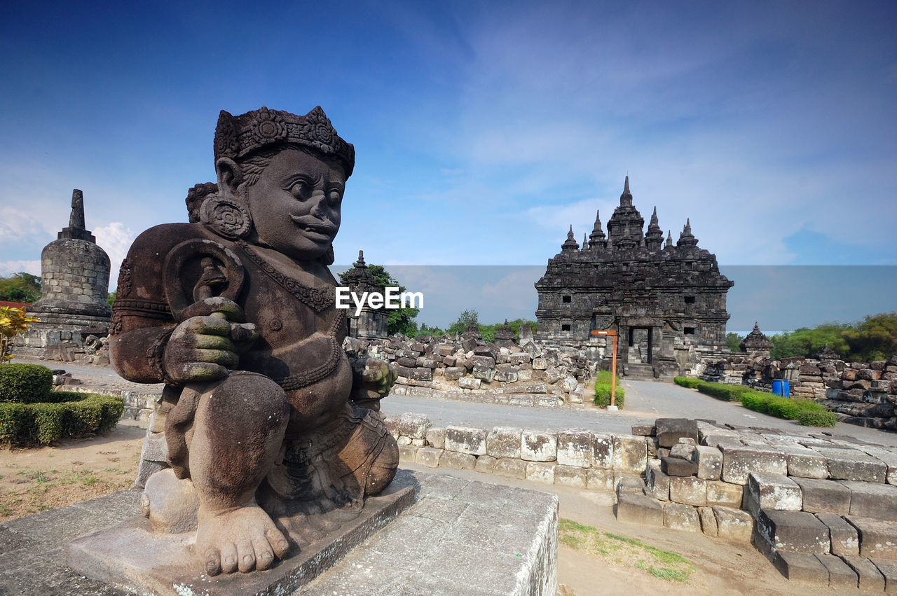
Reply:
[[[115,428],[125,410],[121,398],[111,395],[56,391],[49,397],[54,401],[0,403],[0,444],[48,445],[104,433]]]

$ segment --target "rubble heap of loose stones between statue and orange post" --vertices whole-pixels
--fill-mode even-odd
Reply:
[[[582,403],[583,384],[595,372],[584,350],[542,349],[527,325],[521,327],[519,345],[513,338],[505,324],[494,342],[468,330],[459,336],[415,340],[404,335],[348,338],[344,347],[359,357],[388,360],[398,375],[394,395],[514,405]]]

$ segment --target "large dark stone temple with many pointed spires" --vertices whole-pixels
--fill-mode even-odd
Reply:
[[[644,225],[627,176],[606,235],[600,213],[582,246],[570,226],[536,281],[536,341],[588,349],[607,368],[611,342],[590,332],[615,330],[618,370],[634,377],[674,376],[701,356],[727,352],[726,293],[734,282],[698,246],[689,220],[675,244],[669,233],[665,242],[656,207],[647,232]]]

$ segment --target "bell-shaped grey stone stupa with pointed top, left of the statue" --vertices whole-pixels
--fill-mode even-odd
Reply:
[[[109,333],[109,255],[84,226],[84,197],[77,188],[68,227],[40,253],[40,287],[40,299],[26,308],[39,322],[31,324],[17,353],[64,351],[82,346],[88,335]]]

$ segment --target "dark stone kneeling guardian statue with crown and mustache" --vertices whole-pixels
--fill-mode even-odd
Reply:
[[[196,565],[229,574],[339,528],[393,479],[398,448],[376,405],[395,377],[346,358],[327,269],[353,145],[319,107],[222,111],[214,157],[192,223],[147,229],[122,263],[110,354],[126,379],[165,383],[170,469],[147,480],[144,514],[195,528]]]

